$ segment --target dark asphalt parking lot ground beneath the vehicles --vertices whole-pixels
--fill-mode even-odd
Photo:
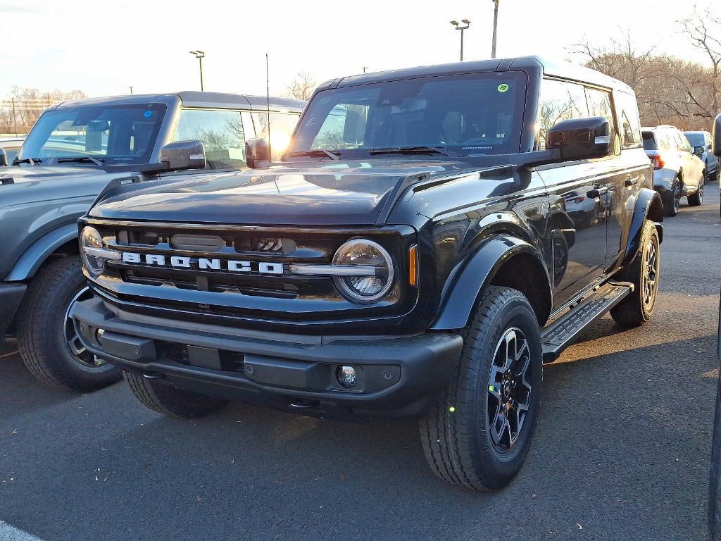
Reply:
[[[43,387],[10,343],[0,540],[706,539],[721,282],[718,185],[706,192],[664,223],[653,320],[622,332],[606,316],[545,367],[539,430],[505,491],[437,480],[413,422],[242,404],[177,421],[124,382]]]

